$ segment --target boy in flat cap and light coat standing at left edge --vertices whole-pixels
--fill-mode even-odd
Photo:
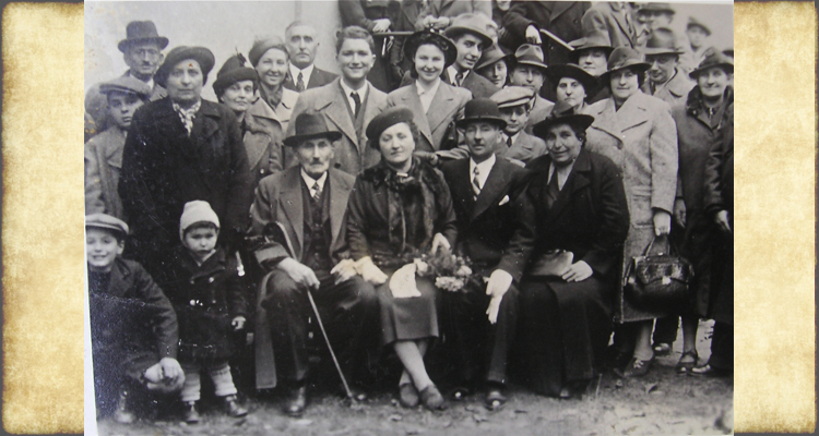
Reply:
[[[108,98],[112,123],[85,144],[85,214],[105,213],[124,218],[117,193],[122,148],[133,113],[147,101],[151,88],[139,78],[121,76],[99,85],[99,93]]]

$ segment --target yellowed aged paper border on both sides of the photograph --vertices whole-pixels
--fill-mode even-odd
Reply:
[[[3,428],[83,431],[83,4],[2,15]],[[814,432],[817,15],[736,3],[737,432]]]

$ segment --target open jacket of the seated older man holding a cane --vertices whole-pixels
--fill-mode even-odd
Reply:
[[[331,168],[327,180],[330,186],[324,186],[322,195],[330,195],[330,256],[339,261],[346,257],[347,201],[355,177]],[[293,245],[293,257],[298,262],[301,262],[305,242],[302,183],[300,166],[269,175],[259,182],[250,207],[250,235],[261,237],[266,226],[281,225]],[[290,257],[288,247],[278,242],[261,243],[253,250],[259,264]]]

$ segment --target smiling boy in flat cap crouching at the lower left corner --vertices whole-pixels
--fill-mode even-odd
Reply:
[[[115,217],[85,217],[97,416],[116,408],[120,423],[134,420],[128,404],[134,390],[174,392],[185,380],[176,314],[142,266],[120,257],[127,234],[128,225]]]

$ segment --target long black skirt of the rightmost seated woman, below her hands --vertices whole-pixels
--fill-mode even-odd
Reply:
[[[557,397],[567,383],[595,375],[612,334],[612,292],[595,277],[523,280],[521,336],[534,391]]]

